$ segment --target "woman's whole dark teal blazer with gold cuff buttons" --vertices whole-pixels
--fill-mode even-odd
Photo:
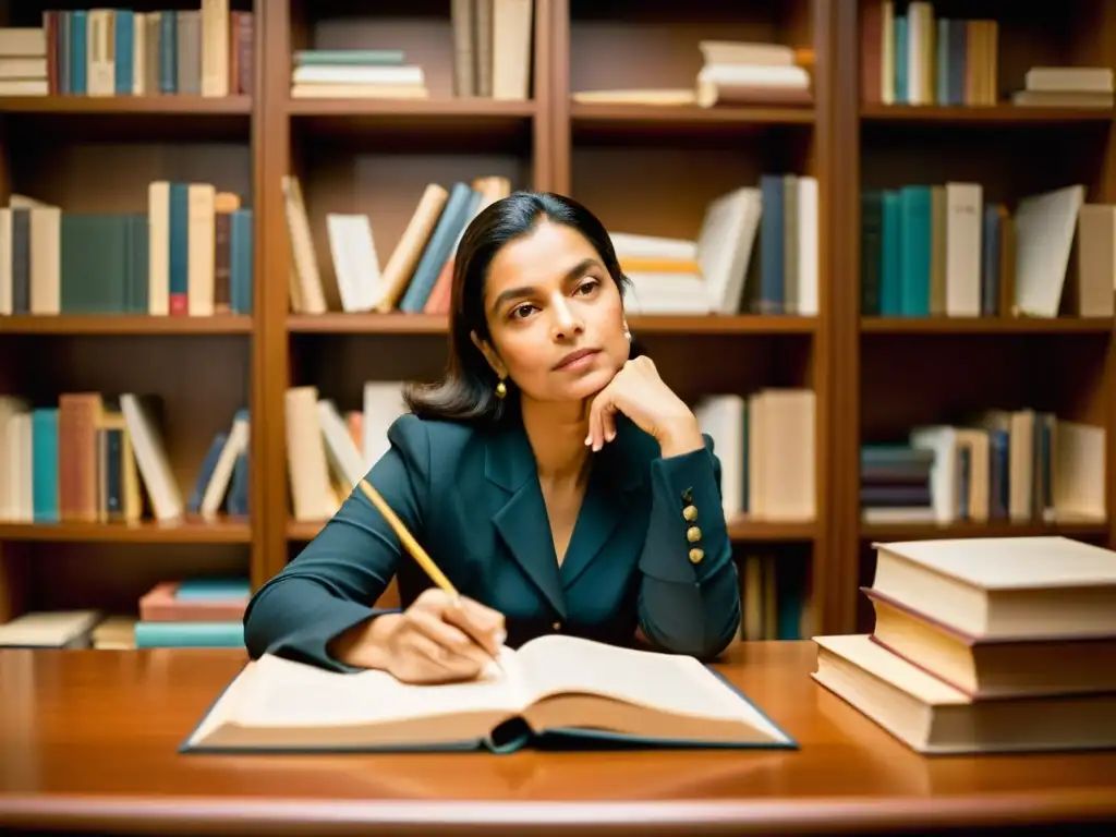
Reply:
[[[624,416],[594,454],[561,566],[535,456],[518,421],[494,430],[407,414],[368,482],[454,586],[504,615],[508,645],[565,633],[709,657],[740,624],[740,587],[713,443],[663,459]],[[687,520],[686,518],[695,518]],[[252,657],[264,652],[347,671],[327,644],[377,610],[393,576],[404,607],[432,583],[359,489],[252,597]]]

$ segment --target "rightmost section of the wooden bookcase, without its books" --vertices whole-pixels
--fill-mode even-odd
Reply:
[[[874,571],[875,541],[1065,535],[1116,545],[1116,498],[1107,519],[983,523],[864,522],[859,513],[859,445],[894,441],[917,425],[952,423],[984,408],[1031,407],[1086,422],[1107,433],[1106,474],[1116,458],[1116,345],[1112,317],[1072,311],[1041,317],[895,317],[862,314],[862,193],[907,184],[979,183],[985,205],[1014,212],[1026,196],[1083,184],[1087,203],[1116,201],[1116,131],[1112,108],[1030,107],[1011,103],[1035,66],[1116,66],[1110,4],[1083,2],[1068,13],[1050,4],[977,7],[942,0],[935,16],[997,21],[997,104],[882,104],[865,59],[862,27],[875,0],[840,6],[835,30],[836,166],[834,269],[849,292],[834,299],[835,368],[830,513],[839,521],[833,555],[845,579],[831,599],[837,624],[870,626],[857,593]],[[867,68],[867,69],[866,69]],[[864,74],[864,75],[863,75]],[[936,88],[932,97],[937,102]],[[1057,151],[1055,151],[1057,150]],[[1075,264],[1067,271],[1072,283]],[[855,289],[855,290],[854,290]]]

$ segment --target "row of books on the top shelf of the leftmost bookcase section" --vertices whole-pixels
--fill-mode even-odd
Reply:
[[[252,13],[71,9],[0,30],[0,95],[222,97],[252,92]]]

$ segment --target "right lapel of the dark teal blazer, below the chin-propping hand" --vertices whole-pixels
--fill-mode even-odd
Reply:
[[[561,581],[569,587],[600,555],[622,521],[629,518],[635,491],[643,484],[643,473],[635,466],[638,456],[627,450],[634,429],[617,421],[616,439],[596,454],[593,475],[581,501],[581,511],[561,565]],[[641,531],[641,536],[645,535]]]

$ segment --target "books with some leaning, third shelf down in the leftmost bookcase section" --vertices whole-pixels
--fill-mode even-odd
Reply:
[[[171,469],[158,398],[62,393],[56,405],[0,396],[0,520],[132,523],[249,513],[249,416],[218,432],[189,500]]]

